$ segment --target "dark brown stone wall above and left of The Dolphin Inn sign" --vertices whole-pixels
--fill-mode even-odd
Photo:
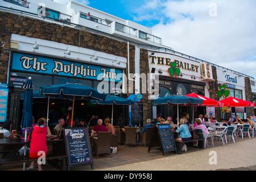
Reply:
[[[95,51],[127,57],[127,43],[55,23],[0,12],[0,82],[7,81],[11,34],[50,40]],[[130,65],[134,65],[135,46],[129,46]],[[134,73],[134,67],[130,67]],[[127,69],[125,71],[127,75]]]

